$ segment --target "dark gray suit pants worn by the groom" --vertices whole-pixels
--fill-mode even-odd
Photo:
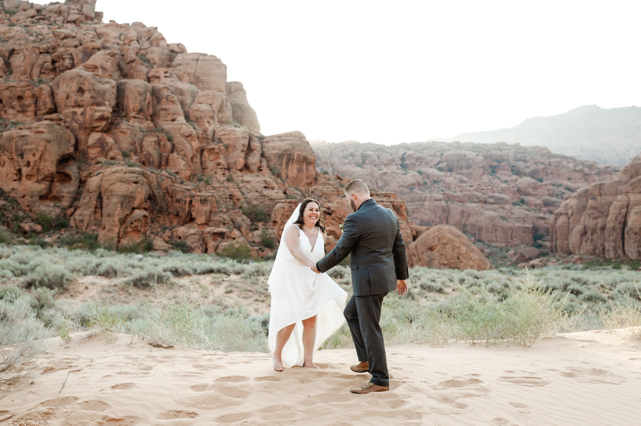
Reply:
[[[367,361],[371,382],[378,386],[390,386],[387,374],[387,358],[381,320],[381,304],[387,293],[374,296],[352,296],[345,306],[344,315],[352,332],[358,361]]]

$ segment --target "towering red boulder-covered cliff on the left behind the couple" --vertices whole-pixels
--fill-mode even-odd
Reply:
[[[219,58],[140,22],[104,24],[95,5],[4,0],[0,189],[31,216],[69,217],[112,246],[179,242],[213,253],[243,244],[254,255],[273,251],[283,215],[312,196],[331,248],[349,213],[347,181],[317,175],[304,135],[263,136]],[[412,239],[403,201],[377,199]]]

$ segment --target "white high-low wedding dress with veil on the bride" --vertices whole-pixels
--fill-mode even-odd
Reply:
[[[283,228],[281,244],[267,281],[272,296],[267,345],[272,354],[276,349],[278,331],[296,324],[283,348],[281,360],[285,367],[303,366],[303,323],[301,321],[317,315],[314,341],[314,353],[316,353],[320,345],[345,322],[343,310],[347,301],[347,293],[338,287],[328,274],[313,272],[310,267],[298,262],[287,248],[285,230],[288,226],[296,226],[293,223],[298,217],[300,207],[301,205],[298,205]],[[325,255],[322,232],[319,232],[312,247],[303,230],[297,226],[296,228],[299,231],[301,251],[309,253],[308,257],[313,262],[322,259]]]

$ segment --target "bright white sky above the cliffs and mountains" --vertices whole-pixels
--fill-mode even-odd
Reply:
[[[641,105],[639,1],[99,0],[222,59],[263,134],[386,145]]]

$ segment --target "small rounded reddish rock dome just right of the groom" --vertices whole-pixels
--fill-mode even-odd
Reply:
[[[410,267],[493,269],[483,253],[451,225],[437,225],[423,232],[407,248],[407,260]]]

